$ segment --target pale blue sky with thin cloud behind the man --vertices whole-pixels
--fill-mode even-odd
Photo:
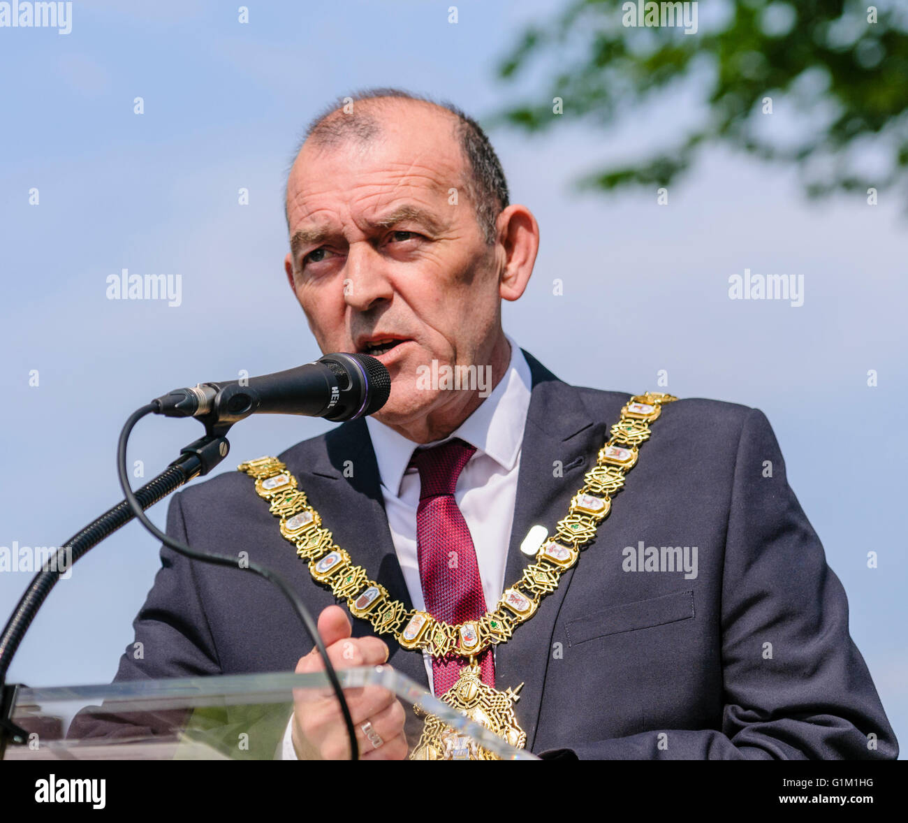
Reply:
[[[461,2],[450,25],[448,3],[269,3],[249,5],[241,25],[239,5],[74,3],[69,35],[0,29],[0,545],[58,544],[119,499],[116,435],[143,402],[319,356],[282,270],[283,174],[313,114],[350,89],[400,85],[481,117],[515,99],[493,67],[520,23],[558,8]],[[706,152],[664,207],[655,192],[571,187],[684,122],[692,105],[681,95],[607,132],[491,134],[512,200],[528,204],[542,233],[528,293],[505,306],[506,330],[568,382],[639,392],[664,369],[676,395],[766,413],[906,738],[908,215],[895,194],[875,207],[861,196],[808,203],[790,171],[723,150]],[[778,113],[779,128],[795,114],[785,104]],[[237,203],[241,187],[248,205]],[[182,304],[107,300],[106,278],[123,268],[181,274]],[[728,278],[745,268],[803,275],[804,305],[729,300]],[[329,425],[247,421],[223,470]],[[131,459],[150,477],[197,431],[145,422]],[[152,516],[163,522],[163,504]],[[110,679],[157,552],[135,524],[93,550],[54,590],[11,679]],[[28,579],[0,575],[4,615]]]

